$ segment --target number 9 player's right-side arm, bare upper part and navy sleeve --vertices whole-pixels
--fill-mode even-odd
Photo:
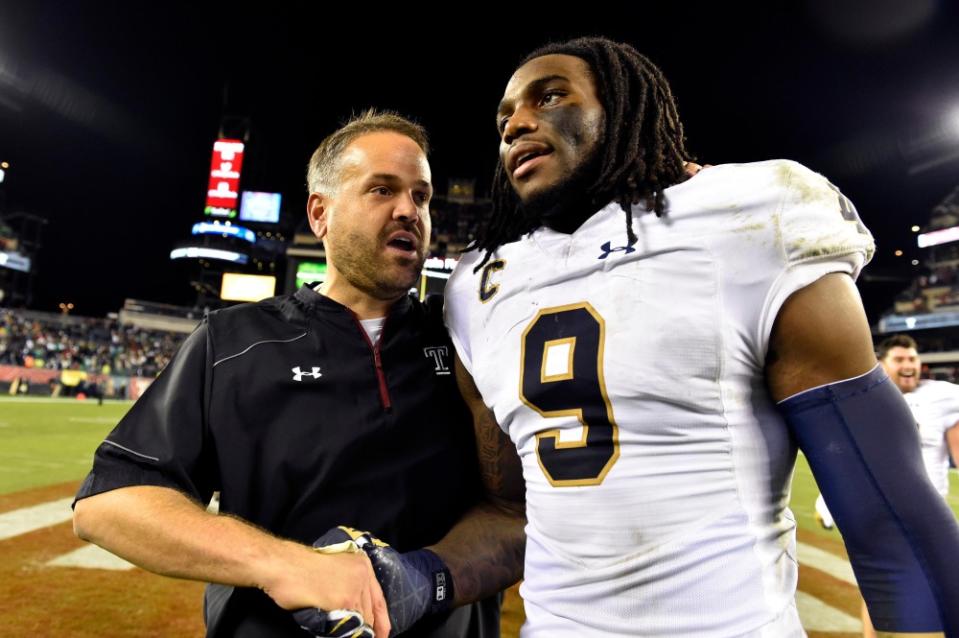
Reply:
[[[787,299],[766,382],[843,534],[878,635],[954,635],[959,579],[947,557],[959,551],[959,529],[925,474],[901,393],[876,367],[848,275]]]

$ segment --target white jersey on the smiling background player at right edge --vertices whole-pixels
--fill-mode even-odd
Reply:
[[[946,381],[920,381],[903,395],[919,424],[922,460],[940,494],[949,494],[949,448],[946,430],[959,422],[959,386]]]

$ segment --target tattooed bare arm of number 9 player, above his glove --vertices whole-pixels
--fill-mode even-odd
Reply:
[[[506,589],[522,578],[526,505],[516,448],[497,425],[459,357],[456,381],[473,417],[486,498],[430,549],[450,569],[455,603],[465,604]]]

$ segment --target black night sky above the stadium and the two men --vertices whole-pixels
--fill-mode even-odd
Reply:
[[[476,177],[487,192],[494,112],[516,62],[579,35],[628,41],[663,69],[701,161],[784,157],[838,185],[879,247],[860,280],[871,320],[917,270],[909,227],[959,185],[955,2],[646,2],[618,13],[530,3],[538,15],[509,4],[139,4],[0,0],[7,211],[47,220],[35,308],[71,301],[102,316],[127,297],[192,303],[168,256],[201,218],[227,112],[252,124],[243,188],[282,192],[297,217],[313,148],[371,105],[426,125],[438,191]]]

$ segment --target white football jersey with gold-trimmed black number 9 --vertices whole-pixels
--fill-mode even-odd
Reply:
[[[446,288],[459,357],[519,452],[522,635],[802,636],[796,449],[763,381],[776,314],[873,241],[789,161],[710,168],[667,214],[611,204]]]

